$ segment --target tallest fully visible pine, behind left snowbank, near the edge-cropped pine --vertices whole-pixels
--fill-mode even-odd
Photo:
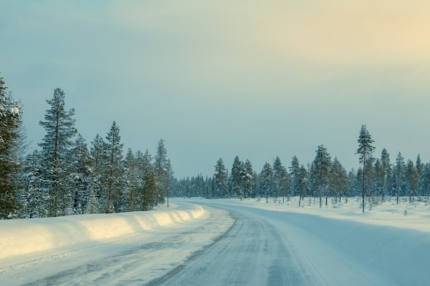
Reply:
[[[45,121],[39,122],[46,131],[39,146],[42,147],[44,187],[49,190],[49,216],[54,217],[69,214],[67,210],[71,208],[69,151],[77,131],[72,118],[75,110],[65,110],[64,91],[56,88],[54,97],[47,99],[47,103],[51,108],[46,110]]]

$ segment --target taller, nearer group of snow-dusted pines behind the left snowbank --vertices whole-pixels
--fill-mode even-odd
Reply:
[[[124,156],[113,121],[88,145],[56,88],[39,122],[40,149],[25,154],[22,106],[6,90],[0,78],[0,219],[146,211],[168,198],[173,171],[163,139],[155,156],[131,149]]]

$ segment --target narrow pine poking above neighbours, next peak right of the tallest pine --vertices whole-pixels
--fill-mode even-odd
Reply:
[[[107,213],[114,213],[115,208],[119,210],[122,203],[122,146],[120,143],[120,128],[113,121],[111,131],[106,136],[109,146],[109,174],[108,174],[108,195]]]

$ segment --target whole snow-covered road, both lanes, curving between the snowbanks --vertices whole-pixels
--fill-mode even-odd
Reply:
[[[6,265],[0,285],[398,285],[338,250],[315,216],[199,203],[198,222]]]

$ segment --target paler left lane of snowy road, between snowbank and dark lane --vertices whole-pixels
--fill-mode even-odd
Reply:
[[[179,203],[179,206],[184,209],[191,207],[189,212],[194,212],[191,204]],[[150,213],[144,212],[143,215]],[[174,211],[166,213],[172,215]],[[47,222],[52,220],[45,219]],[[133,235],[35,252],[27,259],[18,257],[14,258],[16,261],[3,265],[0,260],[0,285],[151,284],[214,243],[232,224],[234,218],[226,211],[205,208],[204,215],[198,219],[177,219],[172,224],[153,226],[150,231]]]

